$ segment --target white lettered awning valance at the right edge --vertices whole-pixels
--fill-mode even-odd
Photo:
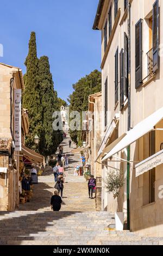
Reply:
[[[135,165],[136,177],[163,163],[163,150]]]

